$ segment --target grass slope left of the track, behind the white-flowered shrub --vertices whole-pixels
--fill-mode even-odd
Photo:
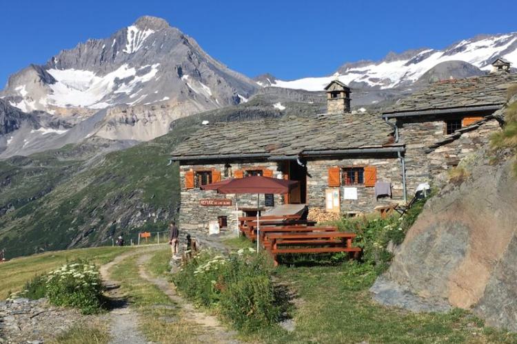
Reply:
[[[77,250],[46,252],[30,257],[15,258],[0,264],[0,299],[6,299],[9,292],[23,289],[34,276],[44,274],[74,259],[88,259],[95,264],[105,264],[117,255],[132,248],[99,247]]]

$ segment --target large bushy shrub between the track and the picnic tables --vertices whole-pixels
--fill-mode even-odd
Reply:
[[[229,257],[205,250],[187,261],[173,279],[187,298],[214,308],[237,329],[252,332],[275,323],[281,314],[271,272],[269,257],[256,255],[252,248]]]

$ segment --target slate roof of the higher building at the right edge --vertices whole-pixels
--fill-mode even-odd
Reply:
[[[487,74],[458,80],[438,81],[411,96],[398,100],[383,115],[409,111],[482,107],[506,103],[509,83],[517,83],[517,74]]]

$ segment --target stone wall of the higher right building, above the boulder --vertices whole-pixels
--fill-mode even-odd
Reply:
[[[398,122],[398,133],[405,143],[405,164],[408,200],[414,196],[416,186],[432,182],[451,166],[456,166],[466,155],[489,142],[490,134],[500,130],[497,120],[489,120],[475,130],[463,133],[456,140],[444,143],[430,151],[429,147],[449,137],[444,133],[443,120],[432,122]]]

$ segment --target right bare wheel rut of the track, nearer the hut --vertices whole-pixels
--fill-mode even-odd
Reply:
[[[166,294],[172,301],[178,304],[183,309],[183,316],[185,320],[192,321],[200,325],[203,328],[203,334],[199,335],[199,341],[201,343],[240,343],[234,339],[236,332],[230,332],[219,323],[219,320],[215,316],[207,315],[203,312],[199,312],[194,308],[194,305],[183,299],[176,292],[176,287],[173,283],[161,278],[152,277],[148,271],[145,270],[145,264],[152,257],[150,252],[147,252],[138,259],[139,275],[143,279],[153,283],[157,286],[164,294]]]

